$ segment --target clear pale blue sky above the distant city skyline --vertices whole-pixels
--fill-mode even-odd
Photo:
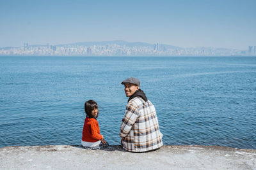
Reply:
[[[0,1],[0,46],[142,41],[256,45],[256,0]]]

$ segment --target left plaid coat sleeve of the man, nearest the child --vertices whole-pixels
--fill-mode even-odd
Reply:
[[[136,122],[137,118],[139,117],[139,112],[137,106],[135,104],[128,103],[125,110],[125,115],[122,120],[122,124],[120,127],[120,134],[119,136],[124,138],[129,134],[131,131],[132,125]]]

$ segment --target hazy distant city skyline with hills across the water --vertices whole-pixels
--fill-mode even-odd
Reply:
[[[247,50],[232,48],[180,46],[160,43],[127,41],[100,41],[69,43],[64,45],[29,45],[0,48],[0,56],[256,56],[256,46]]]

